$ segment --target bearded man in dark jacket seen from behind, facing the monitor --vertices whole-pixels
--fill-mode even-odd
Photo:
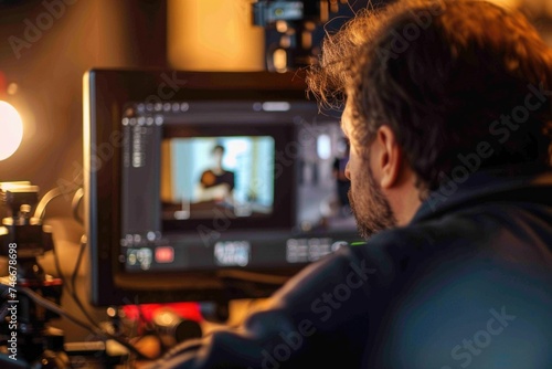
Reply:
[[[552,51],[517,12],[401,1],[328,39],[365,245],[159,367],[552,368]],[[371,236],[372,235],[372,236]]]

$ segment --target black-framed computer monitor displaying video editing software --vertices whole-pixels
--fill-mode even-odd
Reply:
[[[89,71],[92,303],[267,296],[358,240],[347,155],[339,118],[290,73]]]

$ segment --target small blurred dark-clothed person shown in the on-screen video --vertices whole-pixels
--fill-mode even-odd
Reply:
[[[222,167],[224,157],[224,146],[213,147],[212,157],[214,166],[201,173],[198,200],[199,201],[226,201],[232,203],[232,192],[234,190],[234,172]]]

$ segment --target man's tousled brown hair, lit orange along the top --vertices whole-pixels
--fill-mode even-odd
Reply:
[[[425,190],[480,143],[493,152],[480,168],[550,169],[552,50],[518,11],[469,0],[365,10],[325,40],[307,83],[322,105],[348,101],[358,146],[389,125]]]

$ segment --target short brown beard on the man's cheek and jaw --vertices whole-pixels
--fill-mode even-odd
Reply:
[[[357,220],[357,229],[362,238],[368,239],[376,232],[396,225],[393,210],[381,187],[375,182],[370,168],[368,168],[368,176],[364,175],[351,183],[348,196]]]

